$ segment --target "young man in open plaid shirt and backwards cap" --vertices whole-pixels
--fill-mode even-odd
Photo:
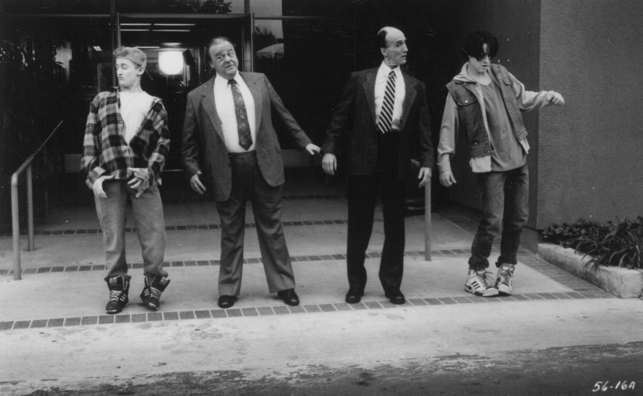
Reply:
[[[167,112],[161,99],[141,90],[145,53],[121,47],[114,57],[119,86],[99,93],[91,102],[82,158],[105,242],[108,314],[117,314],[129,304],[131,276],[125,259],[128,203],[143,252],[143,304],[158,310],[161,292],[170,282],[163,270],[165,222],[158,189],[170,144]]]

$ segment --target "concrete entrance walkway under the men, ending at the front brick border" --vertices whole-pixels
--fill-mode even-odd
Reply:
[[[311,211],[313,206],[315,209]],[[218,222],[212,203],[168,205],[166,212],[168,227],[180,223],[197,226]],[[345,199],[284,201],[284,228],[293,259],[296,291],[300,295],[302,306],[309,308],[300,306],[287,309],[280,299],[267,292],[257,235],[251,228],[251,213],[248,216],[242,294],[234,310],[210,312],[208,317],[242,315],[244,312],[253,315],[260,312],[258,308],[269,306],[278,306],[279,310],[287,313],[390,306],[377,279],[379,254],[384,240],[381,208],[377,210],[378,221],[374,225],[367,250],[370,256],[367,259],[370,280],[363,299],[365,304],[353,307],[343,304],[348,287],[345,269],[347,225],[341,220],[347,218]],[[451,217],[453,218],[453,214]],[[416,305],[480,301],[480,298],[464,292],[471,234],[440,214],[434,213],[432,221],[433,261],[424,261],[424,216],[406,218],[407,257],[404,261],[402,291],[410,299],[407,305],[413,305],[413,301]],[[69,227],[68,223],[61,222],[57,227],[61,225]],[[72,226],[81,225],[73,222]],[[197,317],[195,312],[205,315],[203,312],[218,310],[216,300],[220,230],[208,227],[184,228],[167,232],[165,267],[172,283],[161,299],[163,304],[159,312],[163,313],[163,318],[181,317],[181,312],[184,317]],[[10,242],[10,238],[3,238],[0,246],[8,249]],[[6,275],[3,277],[6,279],[4,287],[0,288],[1,326],[7,328],[10,323],[14,328],[33,327],[33,323],[40,326],[43,320],[48,319],[51,319],[51,323],[48,322],[47,326],[60,323],[60,319],[63,325],[68,322],[89,323],[92,320],[89,318],[104,314],[107,287],[103,280],[106,271],[101,234],[41,235],[37,237],[36,248],[33,252],[24,251],[22,254],[21,281],[10,278],[11,256],[5,254],[0,258],[0,274]],[[140,305],[138,298],[143,280],[140,245],[135,232],[127,233],[127,252],[132,267],[131,306],[123,310],[117,320],[152,320],[149,315],[145,316],[148,311]],[[497,254],[494,252],[491,262],[494,262]],[[586,297],[579,293],[590,293],[590,297],[607,296],[598,288],[548,265],[526,250],[521,250],[520,259],[521,265],[518,266],[514,279],[516,294],[520,296],[503,297],[505,300],[556,298],[553,296],[560,299]],[[494,276],[495,269],[491,268],[490,271]],[[439,298],[444,300],[434,301]],[[238,308],[244,310],[241,312]],[[276,311],[268,309],[266,312]],[[156,317],[159,317],[158,313],[151,316]],[[101,320],[114,321],[111,318]],[[28,325],[27,321],[33,323]]]

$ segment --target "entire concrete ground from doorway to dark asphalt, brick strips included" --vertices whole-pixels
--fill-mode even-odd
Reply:
[[[189,377],[214,381],[194,393],[199,395],[283,394],[262,391],[278,384],[287,384],[291,395],[303,394],[298,384],[315,384],[321,387],[315,394],[325,395],[330,373],[412,370],[433,381],[444,370],[462,375],[496,365],[520,370],[520,359],[547,348],[603,344],[606,353],[618,354],[618,344],[643,341],[643,301],[610,296],[525,249],[518,256],[513,296],[465,292],[475,224],[453,212],[432,215],[433,261],[424,261],[423,216],[406,218],[407,303],[401,306],[385,299],[377,279],[383,223],[376,222],[367,250],[366,294],[362,303],[346,304],[347,214],[341,197],[284,201],[300,306],[285,306],[267,292],[249,216],[241,296],[233,308],[221,310],[216,305],[220,231],[210,227],[218,223],[213,205],[167,205],[165,212],[168,227],[174,227],[167,231],[165,263],[172,283],[158,312],[139,303],[143,283],[135,232],[127,233],[131,305],[118,315],[104,312],[102,236],[77,233],[95,227],[86,215],[78,219],[87,223],[57,222],[39,230],[74,233],[37,236],[37,249],[23,251],[21,281],[10,273],[11,239],[0,238],[0,394],[112,395],[136,389],[151,395],[157,393],[145,393],[147,386],[159,381],[174,386],[180,381],[163,381]],[[380,209],[376,219],[381,220]],[[494,249],[490,261],[497,255]],[[361,380],[346,381],[343,393],[328,394],[367,394]],[[592,384],[583,386],[589,392]],[[177,389],[167,394],[187,394],[187,388]]]

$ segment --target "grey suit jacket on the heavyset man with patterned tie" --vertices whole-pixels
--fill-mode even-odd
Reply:
[[[240,73],[255,99],[255,131],[257,131],[257,163],[269,185],[284,183],[284,160],[271,117],[271,106],[300,147],[311,140],[302,131],[291,113],[284,108],[279,95],[262,73]],[[223,138],[221,120],[217,114],[213,91],[214,77],[188,93],[183,122],[181,154],[186,174],[192,177],[198,171],[206,191],[217,201],[230,197],[232,175],[230,158]]]

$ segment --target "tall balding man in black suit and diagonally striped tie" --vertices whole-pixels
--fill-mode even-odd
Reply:
[[[349,163],[346,302],[359,303],[364,294],[364,255],[373,229],[377,191],[381,190],[385,241],[379,280],[385,296],[394,304],[403,304],[404,182],[412,147],[419,147],[415,159],[421,165],[420,186],[430,180],[430,117],[424,84],[399,67],[406,63],[408,51],[404,33],[387,26],[377,32],[376,42],[383,62],[379,68],[350,75],[321,148],[325,153],[322,167],[334,174],[336,153],[345,150]]]

